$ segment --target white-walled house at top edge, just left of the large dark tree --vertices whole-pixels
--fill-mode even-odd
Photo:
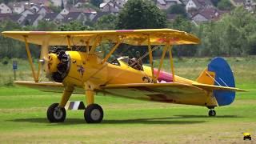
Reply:
[[[122,9],[122,6],[118,5],[114,0],[108,2],[103,2],[99,6],[102,12],[119,12]]]

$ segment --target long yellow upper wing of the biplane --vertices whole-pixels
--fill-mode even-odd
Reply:
[[[147,46],[150,37],[151,45],[198,44],[200,40],[192,34],[172,29],[148,30],[93,30],[93,31],[4,31],[2,35],[24,42],[42,45],[47,42],[49,46],[67,46],[70,38],[71,46],[90,46],[100,39],[102,42],[117,42],[134,46]]]

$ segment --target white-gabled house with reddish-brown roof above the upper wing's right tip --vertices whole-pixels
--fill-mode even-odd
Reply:
[[[202,22],[218,20],[222,14],[223,13],[216,8],[210,7],[198,11],[198,13],[194,14],[190,19],[192,22],[199,24]]]

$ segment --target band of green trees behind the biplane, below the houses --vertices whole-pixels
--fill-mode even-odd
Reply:
[[[0,31],[5,30],[117,30],[117,29],[150,29],[170,28],[183,30],[201,39],[199,45],[174,46],[174,56],[247,56],[256,54],[256,17],[238,7],[225,14],[218,21],[195,25],[184,15],[173,21],[166,19],[166,13],[159,10],[153,2],[146,0],[129,0],[118,15],[108,14],[98,22],[70,22],[57,25],[54,22],[40,21],[38,26],[19,26],[15,22],[0,23]],[[30,46],[31,47],[31,46]],[[31,53],[38,58],[38,46],[32,46]],[[119,51],[130,48],[122,45]],[[141,50],[146,52],[146,47]],[[133,50],[130,50],[133,51]],[[161,55],[161,49],[154,53]],[[0,58],[26,58],[26,50],[22,42],[0,37]]]

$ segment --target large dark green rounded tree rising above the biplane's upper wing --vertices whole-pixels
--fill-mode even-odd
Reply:
[[[118,15],[118,29],[164,27],[166,27],[166,14],[150,1],[129,0]]]

